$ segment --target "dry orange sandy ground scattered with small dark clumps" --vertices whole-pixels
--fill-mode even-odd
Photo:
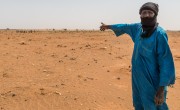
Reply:
[[[168,32],[180,110],[180,32]],[[99,31],[0,31],[0,110],[133,110],[128,35]]]

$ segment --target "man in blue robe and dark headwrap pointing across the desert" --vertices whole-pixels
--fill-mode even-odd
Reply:
[[[135,110],[168,110],[167,86],[175,83],[175,68],[166,32],[158,26],[158,4],[148,2],[139,10],[141,23],[100,27],[116,36],[130,35],[132,55],[132,91]]]

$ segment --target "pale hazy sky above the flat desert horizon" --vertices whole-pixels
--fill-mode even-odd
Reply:
[[[98,29],[106,24],[140,22],[139,8],[159,4],[158,22],[180,30],[180,0],[0,0],[0,29]]]

